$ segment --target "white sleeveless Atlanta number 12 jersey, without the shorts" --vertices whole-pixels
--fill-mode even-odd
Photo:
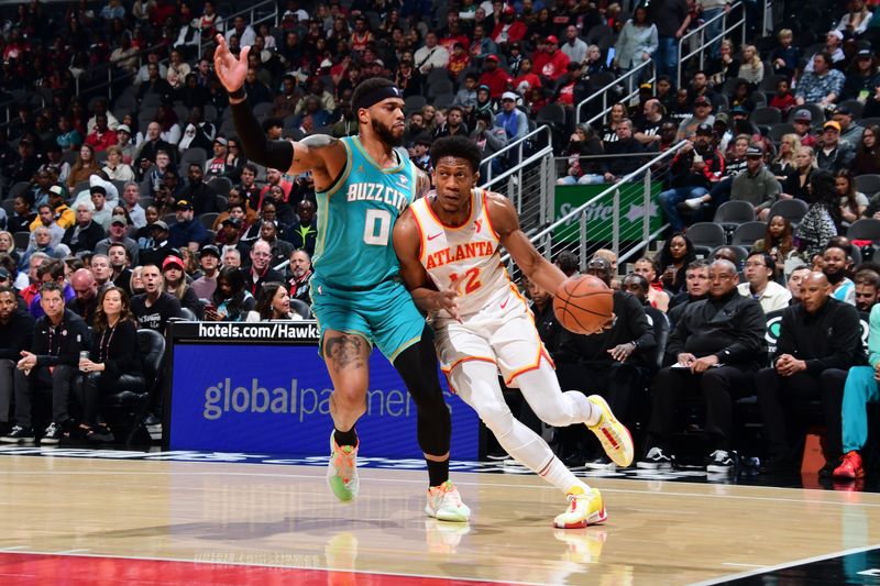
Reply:
[[[443,224],[431,210],[430,198],[415,201],[411,208],[421,233],[421,264],[438,288],[459,291],[462,316],[507,295],[510,279],[486,212],[485,190],[471,190],[471,217],[460,226]]]

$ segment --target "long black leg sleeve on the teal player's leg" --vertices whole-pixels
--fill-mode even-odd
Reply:
[[[452,434],[452,418],[443,400],[437,375],[433,335],[427,325],[421,340],[397,355],[394,367],[416,403],[417,435],[421,451],[437,456],[446,454]]]

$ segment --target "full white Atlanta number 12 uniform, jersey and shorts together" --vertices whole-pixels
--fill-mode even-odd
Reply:
[[[471,191],[471,215],[458,226],[443,224],[430,200],[421,198],[410,206],[421,237],[419,259],[438,289],[453,289],[460,296],[461,322],[446,311],[433,316],[441,368],[449,375],[466,361],[492,362],[508,386],[518,386],[519,374],[537,368],[541,360],[552,361],[528,303],[502,264],[486,191]]]

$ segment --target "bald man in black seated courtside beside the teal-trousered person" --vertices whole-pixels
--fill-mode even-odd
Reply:
[[[811,273],[801,283],[801,302],[782,313],[772,366],[757,375],[758,405],[769,460],[765,469],[791,469],[792,446],[805,434],[809,401],[820,399],[826,433],[822,442],[831,476],[842,456],[840,407],[847,371],[866,364],[856,308],[832,297],[828,279]]]

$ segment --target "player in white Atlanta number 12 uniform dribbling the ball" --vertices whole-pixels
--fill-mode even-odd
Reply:
[[[400,275],[416,305],[430,313],[452,390],[476,410],[508,454],[568,496],[569,506],[553,524],[572,529],[600,523],[607,518],[602,495],[575,478],[538,434],[514,418],[498,371],[508,387],[519,387],[542,421],[586,424],[616,464],[632,462],[632,440],[602,397],[560,389],[531,311],[502,265],[499,247],[549,291],[558,290],[565,275],[526,239],[507,198],[475,188],[480,159],[469,139],[433,143],[436,192],[414,202],[394,226]]]

